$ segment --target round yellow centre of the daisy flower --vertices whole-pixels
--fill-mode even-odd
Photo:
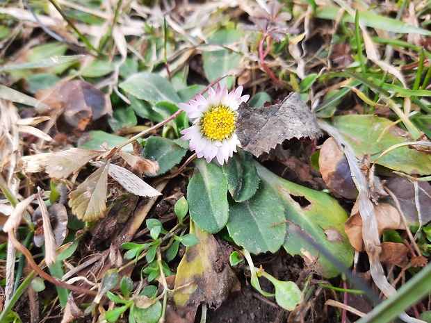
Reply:
[[[213,106],[201,119],[202,133],[211,140],[229,138],[235,131],[236,114],[225,106]]]

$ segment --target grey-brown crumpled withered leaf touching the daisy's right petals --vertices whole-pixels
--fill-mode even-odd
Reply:
[[[301,101],[298,93],[293,93],[282,103],[268,108],[250,108],[247,103],[241,103],[236,135],[243,149],[258,157],[284,140],[314,139],[320,137],[322,131],[309,106]]]

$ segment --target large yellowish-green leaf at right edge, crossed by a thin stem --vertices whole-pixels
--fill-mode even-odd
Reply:
[[[393,145],[409,141],[405,131],[393,125],[390,120],[375,115],[334,117],[334,126],[350,143],[357,158],[370,154],[371,162]],[[407,146],[389,151],[376,163],[407,174],[431,174],[431,157]]]

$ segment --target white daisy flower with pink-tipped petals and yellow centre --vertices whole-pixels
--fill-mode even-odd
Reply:
[[[214,157],[220,165],[236,152],[236,146],[241,147],[235,133],[235,122],[241,102],[248,100],[250,95],[243,95],[243,87],[227,92],[226,86],[216,90],[209,88],[205,99],[197,94],[188,103],[179,103],[192,119],[193,125],[181,132],[182,140],[190,140],[190,150],[196,151],[197,157],[206,159],[209,163]]]

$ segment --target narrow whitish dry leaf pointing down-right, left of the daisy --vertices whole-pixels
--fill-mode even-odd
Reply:
[[[103,163],[100,162],[93,162],[92,164],[103,165]],[[109,176],[115,179],[115,181],[120,183],[123,188],[132,194],[139,195],[140,197],[156,197],[161,195],[161,192],[158,192],[158,190],[153,188],[151,185],[145,183],[143,179],[140,179],[138,176],[123,167],[112,164],[109,166],[108,173]]]

